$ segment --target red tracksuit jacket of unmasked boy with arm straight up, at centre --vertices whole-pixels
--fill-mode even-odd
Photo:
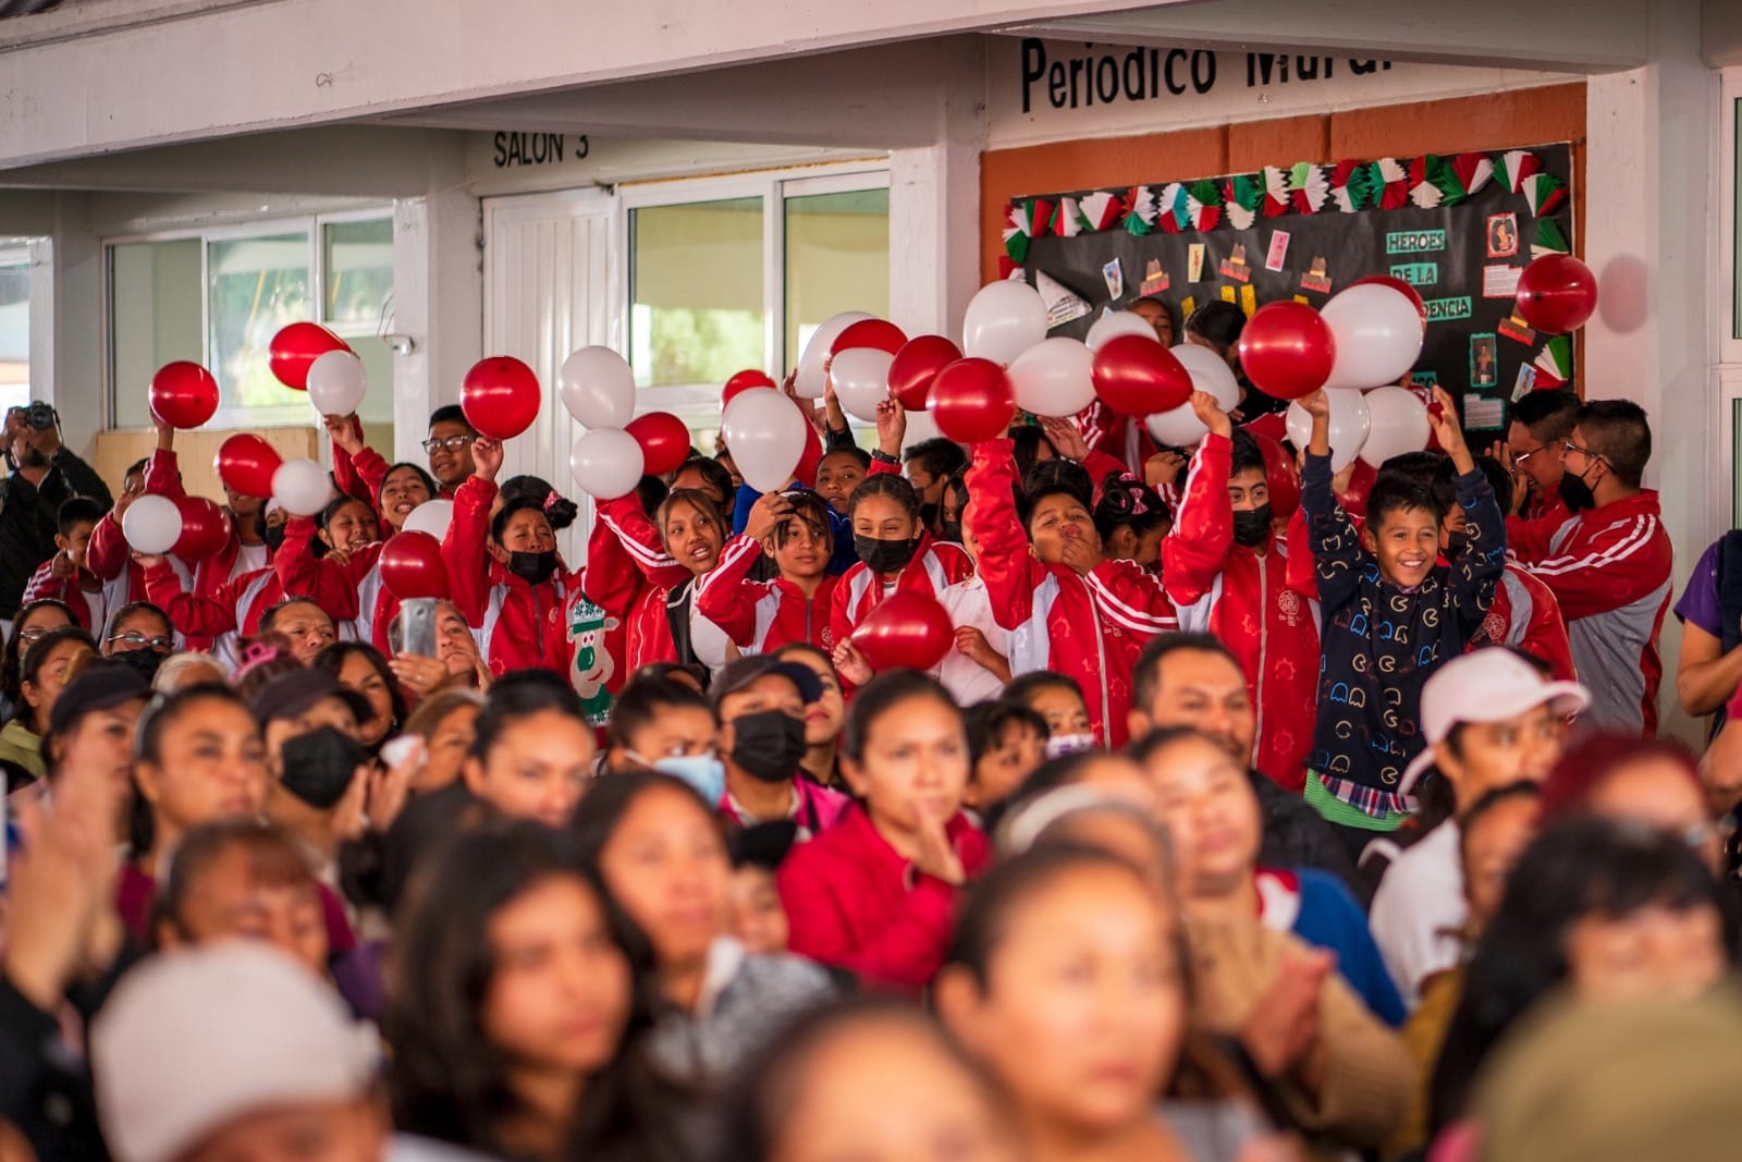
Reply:
[[[1075,678],[1096,737],[1108,747],[1124,746],[1138,655],[1155,634],[1179,629],[1160,578],[1131,561],[1103,561],[1082,577],[1036,561],[1016,517],[1016,463],[1007,439],[974,449],[967,483],[979,575],[993,615],[1010,631],[1010,672],[1050,669]]]

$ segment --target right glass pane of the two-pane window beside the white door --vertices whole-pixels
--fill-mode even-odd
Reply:
[[[888,190],[786,199],[786,366],[843,310],[888,317]]]

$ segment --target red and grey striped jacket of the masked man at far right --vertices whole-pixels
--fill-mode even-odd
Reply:
[[[1639,491],[1557,521],[1509,526],[1510,549],[1561,603],[1585,718],[1610,730],[1657,735],[1664,660],[1657,639],[1669,611],[1674,549],[1657,493]]]

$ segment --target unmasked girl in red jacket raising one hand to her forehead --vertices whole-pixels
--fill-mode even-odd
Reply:
[[[751,580],[765,554],[780,575]],[[726,542],[719,566],[697,582],[695,608],[744,653],[773,653],[789,641],[833,650],[833,554],[822,497],[808,490],[763,493],[744,531]]]

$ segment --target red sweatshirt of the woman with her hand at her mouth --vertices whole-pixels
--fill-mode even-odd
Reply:
[[[986,836],[965,815],[944,833],[970,878],[991,862]],[[857,803],[794,847],[777,883],[800,956],[904,993],[923,990],[944,963],[956,888],[916,873]]]

